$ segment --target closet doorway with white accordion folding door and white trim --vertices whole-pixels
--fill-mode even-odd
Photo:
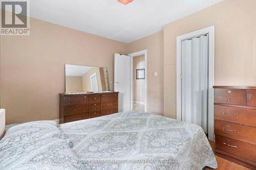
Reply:
[[[214,140],[215,27],[177,37],[177,119],[199,125]]]

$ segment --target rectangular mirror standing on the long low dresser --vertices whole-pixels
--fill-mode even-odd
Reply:
[[[108,91],[108,70],[104,67],[65,64],[66,93]]]

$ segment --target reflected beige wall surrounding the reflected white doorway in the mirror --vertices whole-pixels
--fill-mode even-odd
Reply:
[[[92,91],[91,76],[95,73],[96,73],[97,82],[98,82],[98,89],[99,89],[99,91],[102,91],[99,67],[92,67],[89,71],[86,72],[86,74],[84,74],[82,76],[82,89],[83,89],[83,91]]]

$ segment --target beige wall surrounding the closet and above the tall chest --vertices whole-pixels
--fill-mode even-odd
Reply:
[[[256,85],[256,1],[224,0],[164,27],[164,115],[176,118],[176,37],[215,25],[215,84]]]

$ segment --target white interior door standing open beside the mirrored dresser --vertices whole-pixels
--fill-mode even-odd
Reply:
[[[131,110],[131,57],[115,54],[115,91],[118,95],[118,111]]]

